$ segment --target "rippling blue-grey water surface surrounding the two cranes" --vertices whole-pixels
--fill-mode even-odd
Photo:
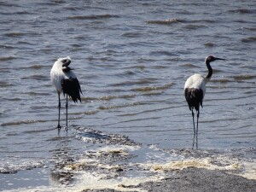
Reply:
[[[253,1],[2,1],[0,171],[95,148],[77,126],[143,146],[191,148],[183,84],[193,73],[207,74],[207,55],[226,61],[212,63],[199,147],[255,148],[255,17]],[[82,103],[69,101],[71,127],[58,133],[49,71],[67,55],[84,94]]]

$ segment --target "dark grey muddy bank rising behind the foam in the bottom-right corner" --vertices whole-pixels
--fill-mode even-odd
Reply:
[[[256,181],[241,176],[231,175],[224,171],[207,170],[202,168],[187,168],[175,172],[166,172],[166,177],[159,182],[140,183],[136,186],[122,186],[123,190],[88,189],[93,192],[117,191],[148,191],[148,192],[254,192]],[[134,190],[129,190],[134,189]]]

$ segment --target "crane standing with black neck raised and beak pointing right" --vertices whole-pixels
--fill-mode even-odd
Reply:
[[[193,117],[193,125],[194,125],[194,140],[193,140],[193,148],[194,144],[196,143],[196,148],[198,148],[197,137],[198,137],[198,119],[200,114],[200,106],[202,107],[203,98],[206,94],[206,85],[208,81],[212,78],[212,67],[210,62],[216,60],[224,60],[218,57],[214,57],[212,55],[207,56],[206,58],[206,65],[208,69],[207,77],[201,76],[201,74],[194,74],[187,79],[184,85],[184,95],[186,97],[186,101],[189,105],[189,110],[192,112]],[[195,119],[194,119],[194,108],[197,112],[197,122],[196,122],[196,129],[195,129]],[[195,142],[196,138],[196,142]]]

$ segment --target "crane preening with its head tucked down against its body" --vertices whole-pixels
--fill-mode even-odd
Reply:
[[[50,71],[50,79],[52,84],[55,85],[55,89],[59,98],[59,118],[57,128],[61,128],[60,125],[60,113],[61,113],[61,92],[63,92],[66,98],[69,96],[73,99],[73,102],[81,102],[80,93],[82,93],[79,80],[73,73],[73,68],[69,67],[71,59],[69,56],[65,58],[59,58],[55,61]],[[66,102],[66,125],[67,125],[67,107]]]

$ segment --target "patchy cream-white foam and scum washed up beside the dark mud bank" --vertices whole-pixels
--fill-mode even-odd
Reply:
[[[244,166],[236,159],[225,158],[223,154],[212,158],[183,157],[183,160],[170,160],[168,158],[164,163],[158,163],[158,160],[150,160],[150,162],[146,160],[143,163],[127,161],[128,159],[132,160],[131,153],[136,150],[140,151],[141,148],[134,146],[98,148],[95,151],[86,152],[84,159],[69,164],[64,169],[77,173],[77,182],[74,183],[74,186],[75,189],[83,191],[90,189],[145,191],[138,188],[137,185],[160,182],[166,178],[166,172],[188,168],[219,170],[230,174],[238,174],[241,169],[244,169]],[[147,153],[142,155],[147,155]],[[119,160],[123,161],[119,162]]]

